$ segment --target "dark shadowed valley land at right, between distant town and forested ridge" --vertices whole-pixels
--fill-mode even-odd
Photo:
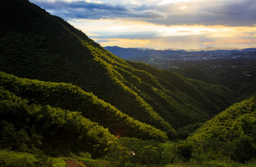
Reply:
[[[233,53],[238,56],[238,53]],[[250,55],[255,57],[255,52],[239,53],[243,56]],[[253,96],[256,92],[255,76],[256,61],[255,58],[239,58],[230,60],[205,60],[205,61],[179,61],[172,62],[179,66],[179,69],[167,69],[177,72],[185,77],[198,79],[204,82],[222,84],[225,87],[234,90],[239,96],[237,101]],[[193,71],[193,72],[192,72]]]

